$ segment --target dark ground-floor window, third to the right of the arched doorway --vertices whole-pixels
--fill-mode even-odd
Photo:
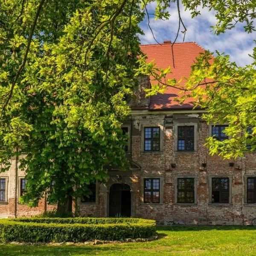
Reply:
[[[212,203],[229,203],[229,178],[212,178]]]

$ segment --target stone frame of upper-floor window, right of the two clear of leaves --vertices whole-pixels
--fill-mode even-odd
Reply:
[[[194,150],[178,150],[178,126],[194,126]],[[186,122],[186,123],[175,123],[173,125],[173,138],[174,138],[174,151],[175,153],[193,153],[197,151],[197,139],[198,139],[198,123],[197,122]]]

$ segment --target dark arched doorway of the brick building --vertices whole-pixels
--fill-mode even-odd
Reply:
[[[109,216],[131,217],[131,188],[129,185],[113,184],[109,192]]]

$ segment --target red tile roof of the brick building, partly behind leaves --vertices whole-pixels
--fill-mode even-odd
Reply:
[[[165,69],[170,66],[172,74],[168,74],[167,78],[175,78],[177,81],[189,76],[195,58],[200,52],[204,52],[204,49],[195,42],[175,43],[173,45],[175,67],[173,67],[172,44],[148,44],[141,45],[140,48],[148,56],[148,61],[154,61],[157,67]],[[151,83],[153,84],[155,81],[152,80]],[[184,82],[183,79],[181,84]],[[186,99],[182,105],[175,101],[175,98],[180,95],[179,92],[178,89],[168,87],[164,94],[159,93],[151,96],[149,109],[192,109],[193,99]]]

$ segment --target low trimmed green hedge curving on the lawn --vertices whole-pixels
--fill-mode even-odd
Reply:
[[[147,238],[156,222],[140,218],[16,218],[0,219],[2,241],[81,242],[93,239]]]

